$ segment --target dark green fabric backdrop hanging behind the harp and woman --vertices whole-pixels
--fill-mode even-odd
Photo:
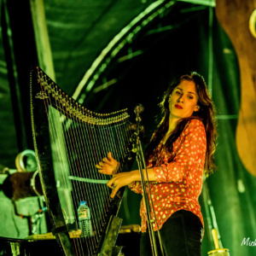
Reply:
[[[0,164],[15,168],[15,156],[26,148],[33,149],[29,70],[38,57],[29,2],[16,2],[15,7],[12,1],[6,2],[3,1],[1,9]],[[61,89],[72,96],[102,49],[151,3],[154,1],[45,0],[55,82]],[[252,241],[256,239],[256,177],[247,172],[236,149],[240,71],[236,50],[218,23],[214,3],[206,3],[173,2],[162,15],[127,40],[92,88],[89,90],[85,84],[77,99],[86,108],[101,113],[130,108],[132,121],[132,109],[142,103],[146,141],[160,119],[158,104],[172,77],[183,70],[201,73],[209,84],[218,113],[215,154],[218,169],[207,177],[205,186],[223,246],[230,250],[230,255],[251,256],[256,253],[256,247],[241,246],[241,242],[247,237]],[[26,15],[20,15],[20,9]],[[132,55],[136,52],[137,55]],[[109,85],[108,81],[113,83]],[[140,195],[125,192],[119,212],[124,218],[123,224],[140,223],[140,199]],[[206,227],[202,255],[207,255],[213,244],[208,230],[207,205],[202,196],[200,202]],[[1,207],[0,216],[4,211]],[[4,230],[0,230],[0,236],[4,236]],[[9,236],[12,235],[17,238],[15,231]],[[22,236],[19,238],[24,238]]]

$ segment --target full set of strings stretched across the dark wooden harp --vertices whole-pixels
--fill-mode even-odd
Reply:
[[[62,195],[59,195],[62,197],[61,208],[65,204],[63,208],[67,212],[64,214],[67,215],[67,222],[73,223],[74,220],[79,224],[76,214],[79,201],[87,201],[93,237],[73,238],[73,242],[77,254],[85,255],[88,252],[91,255],[100,239],[102,224],[107,219],[111,192],[105,184],[110,177],[97,172],[96,163],[111,151],[113,158],[119,160],[119,170],[123,167],[126,144],[130,138],[127,121],[123,118],[125,114],[119,113],[116,117],[108,118],[113,113],[103,116],[81,108],[78,103],[73,106],[74,101],[64,93],[61,95],[61,90],[58,93],[57,87],[44,87],[49,81],[43,73],[38,74],[38,77],[42,79],[39,80],[45,109],[49,110],[46,114],[55,175],[57,173],[62,189]],[[61,189],[58,188],[58,193]]]

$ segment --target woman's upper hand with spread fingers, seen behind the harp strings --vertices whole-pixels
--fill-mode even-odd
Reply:
[[[108,158],[103,158],[102,161],[96,165],[96,168],[98,168],[98,172],[102,174],[113,175],[118,172],[119,162],[113,159],[111,152],[108,152]]]

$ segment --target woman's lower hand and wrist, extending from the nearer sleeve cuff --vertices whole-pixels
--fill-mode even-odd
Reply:
[[[107,183],[108,187],[113,189],[110,196],[113,198],[120,188],[136,181],[138,175],[138,171],[120,172],[113,175],[112,179]]]

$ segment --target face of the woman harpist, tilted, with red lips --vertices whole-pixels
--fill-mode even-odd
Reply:
[[[182,80],[172,91],[169,98],[169,108],[172,119],[187,118],[194,111],[198,111],[198,96],[195,91],[195,83],[189,80]]]

